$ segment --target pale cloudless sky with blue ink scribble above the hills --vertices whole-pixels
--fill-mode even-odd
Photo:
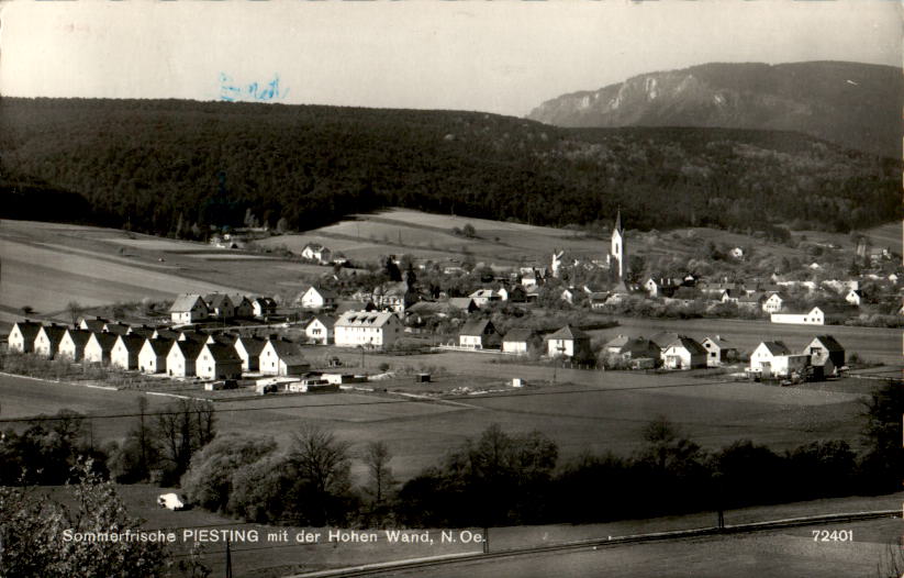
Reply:
[[[11,0],[0,95],[525,115],[707,62],[901,66],[896,0]]]

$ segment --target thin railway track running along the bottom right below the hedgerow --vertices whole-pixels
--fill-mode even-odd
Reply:
[[[367,566],[355,566],[339,568],[335,570],[323,570],[309,574],[295,574],[286,578],[351,578],[357,576],[378,576],[402,570],[416,570],[432,568],[451,564],[489,562],[514,556],[548,554],[557,552],[568,552],[578,549],[599,549],[617,546],[644,544],[649,542],[661,542],[668,540],[685,540],[701,536],[717,536],[730,534],[746,534],[752,532],[765,532],[770,530],[782,530],[786,527],[799,527],[833,522],[861,522],[867,520],[879,520],[885,518],[901,518],[901,510],[880,510],[872,512],[851,512],[841,514],[811,515],[803,518],[788,518],[783,520],[770,520],[766,522],[751,522],[747,524],[725,525],[724,527],[710,526],[693,530],[678,530],[672,532],[656,532],[651,534],[635,534],[627,536],[615,536],[610,538],[591,538],[576,542],[565,542],[540,546],[528,546],[524,548],[511,548],[489,553],[451,554],[431,558],[417,558],[412,560],[401,560],[384,564],[373,564]]]

